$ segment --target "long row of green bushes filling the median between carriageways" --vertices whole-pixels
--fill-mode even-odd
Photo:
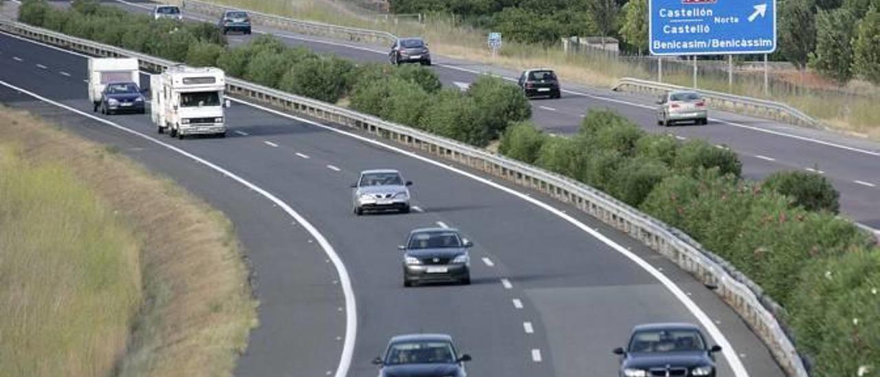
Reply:
[[[34,8],[28,22],[62,12],[31,1],[24,5]],[[65,17],[89,17],[77,9]],[[141,17],[114,14],[123,25]],[[837,217],[839,194],[821,175],[781,172],[749,181],[729,149],[648,134],[606,110],[590,112],[575,137],[551,137],[527,122],[531,107],[517,86],[489,76],[465,92],[444,89],[423,67],[358,65],[270,36],[236,48],[202,41],[177,53],[187,63],[461,142],[496,142],[506,156],[601,189],[688,233],[752,278],[785,308],[782,320],[817,375],[880,368],[880,253]]]

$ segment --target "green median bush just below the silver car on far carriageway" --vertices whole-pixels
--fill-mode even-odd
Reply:
[[[694,174],[700,168],[718,167],[722,174],[734,174],[738,177],[743,171],[743,163],[737,157],[737,152],[715,147],[705,140],[689,140],[682,144],[672,167],[683,174]]]

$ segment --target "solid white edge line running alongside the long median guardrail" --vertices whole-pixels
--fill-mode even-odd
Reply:
[[[385,144],[385,143],[382,143],[378,140],[373,140],[370,137],[363,137],[361,135],[356,135],[355,133],[352,133],[352,132],[349,132],[346,130],[335,129],[333,127],[326,126],[326,125],[321,124],[319,122],[310,121],[308,119],[305,119],[305,118],[302,118],[302,117],[299,117],[296,115],[282,113],[281,111],[278,111],[278,110],[275,110],[272,108],[268,108],[268,107],[264,107],[264,106],[260,106],[260,105],[257,105],[257,104],[251,103],[251,102],[247,102],[244,100],[238,100],[238,99],[234,99],[234,98],[231,100],[236,101],[238,103],[245,104],[250,107],[259,108],[260,110],[266,111],[268,113],[279,115],[279,116],[282,116],[282,117],[285,117],[288,119],[293,119],[298,122],[312,124],[313,126],[319,127],[320,129],[326,129],[330,132],[335,132],[340,135],[352,137],[352,138],[355,138],[356,140],[360,140],[366,144],[377,145],[377,146],[383,147],[389,151],[397,152],[401,155],[408,156],[413,159],[419,159],[419,160],[421,160],[425,163],[428,163],[430,165],[439,166],[439,167],[446,169],[446,170],[449,170],[451,172],[466,176],[474,181],[479,181],[489,187],[497,188],[497,189],[499,189],[503,192],[506,192],[512,196],[517,196],[520,199],[522,199],[528,203],[532,203],[535,206],[537,206],[543,210],[546,210],[546,211],[553,213],[557,217],[562,218],[563,220],[567,221],[569,224],[574,225],[578,229],[581,229],[584,233],[590,234],[593,238],[601,241],[602,243],[604,243],[608,247],[619,252],[621,255],[626,256],[627,259],[629,259],[630,261],[637,264],[639,267],[642,268],[642,270],[647,271],[652,277],[656,278],[660,282],[660,284],[664,285],[664,287],[666,287],[666,289],[669,290],[671,292],[671,294],[673,296],[675,296],[675,298],[678,299],[678,301],[681,302],[681,304],[683,306],[685,306],[689,312],[691,312],[691,314],[693,314],[694,318],[698,322],[700,322],[700,324],[703,325],[703,327],[707,330],[709,336],[712,336],[712,338],[715,339],[715,343],[722,347],[722,354],[724,355],[724,359],[727,360],[728,364],[730,365],[730,369],[733,370],[734,375],[736,377],[747,377],[749,375],[749,373],[745,370],[743,363],[739,360],[739,358],[737,358],[737,352],[734,350],[733,345],[731,345],[730,342],[727,340],[727,337],[724,336],[724,334],[722,334],[721,330],[718,329],[717,326],[715,326],[715,323],[713,323],[711,320],[709,320],[706,313],[703,312],[702,309],[700,309],[700,307],[698,307],[697,304],[693,302],[693,299],[690,299],[689,297],[687,297],[685,292],[682,292],[681,288],[679,288],[678,285],[675,284],[675,282],[673,282],[669,277],[666,277],[663,273],[661,273],[659,270],[657,270],[654,266],[651,266],[649,262],[645,262],[641,257],[639,257],[638,255],[635,255],[633,252],[627,250],[627,248],[620,246],[620,244],[618,244],[614,240],[608,238],[607,236],[605,236],[605,234],[600,233],[597,230],[590,228],[590,226],[583,224],[581,221],[572,217],[571,215],[568,215],[567,213],[559,211],[559,210],[555,209],[552,205],[541,202],[538,199],[535,199],[532,196],[528,196],[528,195],[526,195],[522,192],[519,192],[513,188],[503,186],[501,184],[495,183],[494,181],[488,180],[487,178],[480,177],[479,175],[476,175],[476,174],[468,173],[464,170],[458,169],[457,167],[446,165],[442,162],[439,162],[439,161],[436,161],[433,159],[429,159],[428,157],[421,156],[421,155],[416,154],[414,152],[407,151],[403,148],[392,146],[391,144]],[[505,281],[507,281],[507,279],[502,279],[502,284],[504,284]],[[510,282],[507,281],[506,285],[510,285]]]

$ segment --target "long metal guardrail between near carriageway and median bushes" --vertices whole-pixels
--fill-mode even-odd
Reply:
[[[136,57],[146,70],[160,71],[174,64],[165,59],[85,41],[18,22],[0,20],[0,30],[89,55]],[[665,225],[582,182],[468,144],[240,79],[230,78],[226,83],[227,91],[231,95],[257,100],[326,122],[361,129],[377,137],[390,139],[415,150],[532,188],[575,206],[578,210],[642,241],[649,248],[675,262],[682,270],[691,273],[704,285],[713,287],[715,293],[721,296],[767,345],[789,376],[808,376],[803,360],[774,315],[779,313],[781,308],[763,296],[760,288],[729,262],[701,248],[695,240],[678,229]]]

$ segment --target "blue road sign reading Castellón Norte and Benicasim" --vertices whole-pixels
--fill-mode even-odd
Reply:
[[[770,54],[776,0],[649,0],[651,55]]]

